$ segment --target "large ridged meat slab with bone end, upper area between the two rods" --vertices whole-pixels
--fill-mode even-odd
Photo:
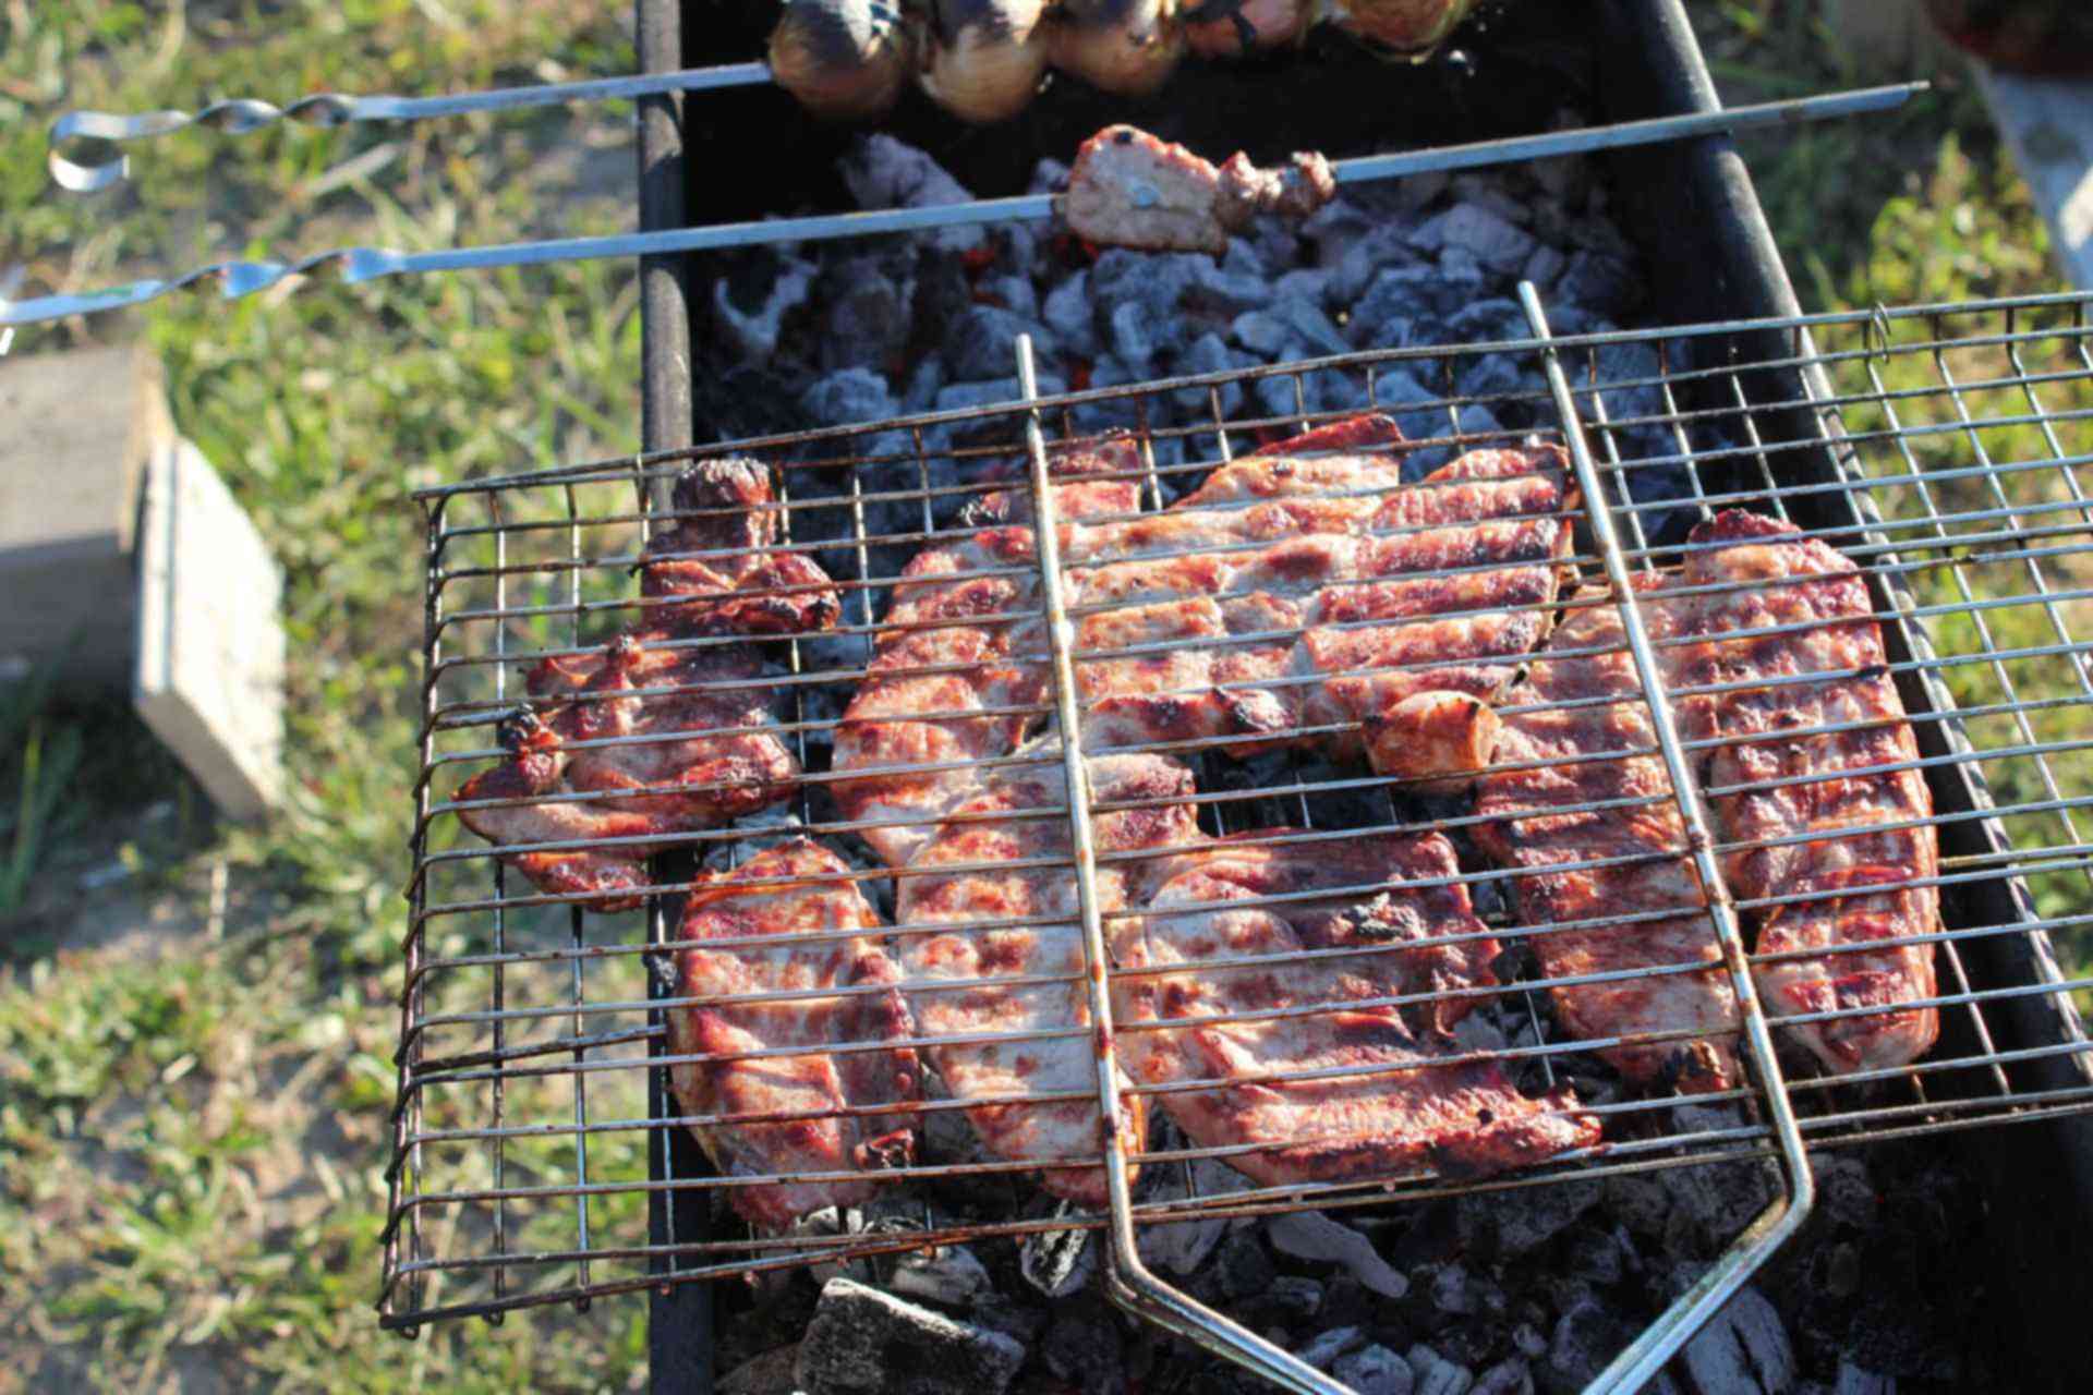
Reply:
[[[1352,757],[1371,719],[1432,751],[1390,774],[1459,782],[1488,719],[1448,740],[1448,705],[1404,703],[1501,694],[1547,634],[1572,502],[1555,448],[1469,452],[1417,485],[1392,454],[1252,456],[1162,514],[1072,529],[1084,749],[1245,753],[1306,726],[1333,730],[1285,745]]]

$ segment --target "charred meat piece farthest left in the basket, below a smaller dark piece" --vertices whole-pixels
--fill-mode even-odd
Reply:
[[[797,782],[800,763],[772,730],[770,690],[753,686],[756,655],[741,644],[670,648],[670,638],[622,634],[603,655],[542,661],[525,680],[536,705],[502,726],[509,759],[458,788],[458,801],[542,801],[458,809],[492,843],[649,839],[504,853],[540,891],[592,893],[586,906],[603,912],[636,906],[630,893],[647,885],[640,864],[657,839],[718,828]]]

